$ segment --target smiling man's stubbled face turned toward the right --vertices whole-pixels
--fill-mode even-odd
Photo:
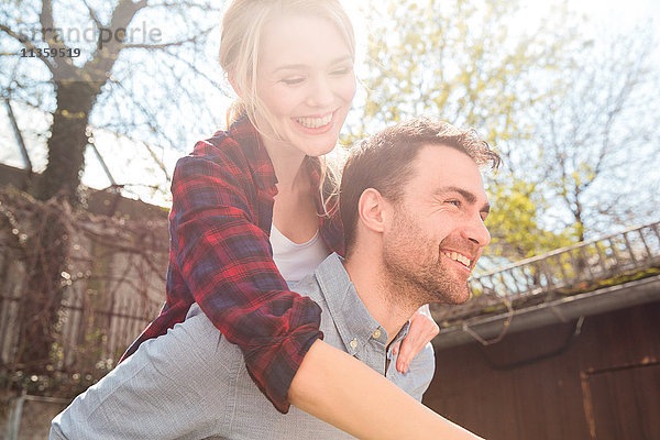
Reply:
[[[383,235],[385,268],[424,304],[462,304],[470,298],[468,277],[491,242],[481,174],[470,156],[442,145],[424,146],[413,165]]]

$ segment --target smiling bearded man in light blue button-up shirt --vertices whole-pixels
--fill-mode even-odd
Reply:
[[[366,140],[342,177],[346,257],[330,255],[296,288],[321,307],[326,342],[417,399],[433,374],[430,345],[405,374],[392,345],[421,305],[470,297],[468,277],[490,242],[479,170],[488,163],[499,157],[474,132],[424,118]],[[145,342],[77,397],[53,420],[51,438],[348,437],[297,408],[277,413],[250,380],[240,349],[196,305],[170,334]]]

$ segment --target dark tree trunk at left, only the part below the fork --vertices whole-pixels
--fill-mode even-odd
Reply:
[[[57,111],[48,140],[48,165],[36,182],[34,196],[53,197],[76,207],[87,147],[89,112],[100,91],[94,82],[57,84]],[[63,298],[68,237],[59,216],[50,213],[34,224],[33,251],[28,262],[28,293],[21,302],[21,345],[18,361],[32,372],[42,372],[52,361],[54,328]]]

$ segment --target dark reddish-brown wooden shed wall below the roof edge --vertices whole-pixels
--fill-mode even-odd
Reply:
[[[542,354],[560,348],[571,326],[553,324],[510,333],[487,348],[474,342],[440,350],[436,354],[436,377],[425,395],[425,403],[488,440],[590,439],[583,399],[593,402],[596,397],[583,392],[583,377],[591,380],[615,367],[660,362],[659,316],[660,302],[653,302],[588,317],[572,344],[552,358]],[[525,360],[528,362],[520,362]],[[516,365],[503,369],[507,363]],[[644,378],[646,382],[634,386],[629,385],[634,378],[622,376],[612,381],[620,383],[615,391],[622,395],[607,398],[620,399],[626,408],[632,408],[632,402],[642,398],[635,404],[641,408],[640,414],[660,414],[657,403],[649,402],[653,396],[638,397],[646,388],[656,389],[654,398],[658,397],[657,376]],[[586,386],[590,393],[591,382]],[[597,417],[618,417],[616,413],[614,416],[603,413],[607,408],[593,409]],[[626,417],[646,429],[644,436],[648,432],[656,436],[656,431],[647,427],[646,415],[627,414]],[[656,440],[660,436],[650,438]]]

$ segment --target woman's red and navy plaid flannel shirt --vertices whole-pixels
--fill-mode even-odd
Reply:
[[[317,168],[312,177],[318,185]],[[320,308],[290,292],[273,263],[268,237],[276,183],[271,158],[248,118],[198,142],[178,161],[172,179],[167,301],[122,360],[182,322],[197,302],[241,348],[262,393],[279,411],[288,411],[294,375],[322,333]],[[338,217],[321,216],[319,230],[328,249],[343,254]]]

